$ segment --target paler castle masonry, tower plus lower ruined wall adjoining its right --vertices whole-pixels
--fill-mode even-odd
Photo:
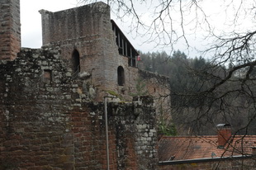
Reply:
[[[130,67],[128,58],[119,54],[107,4],[97,2],[61,12],[41,10],[40,13],[43,44],[59,46],[63,59],[71,59],[73,50],[78,50],[81,72],[91,75],[91,86],[97,91],[96,101],[102,101],[108,92],[115,92],[122,99],[131,101],[130,94],[137,92],[138,78],[145,80],[149,95],[169,94],[168,78]],[[119,66],[125,72],[123,86],[117,83]]]

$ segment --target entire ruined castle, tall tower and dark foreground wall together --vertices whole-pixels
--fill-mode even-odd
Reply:
[[[7,3],[18,16],[19,1]],[[20,50],[19,34],[0,43],[15,49],[0,54],[0,169],[107,169],[107,134],[110,169],[157,168],[155,102],[168,79],[135,67],[106,4],[40,13],[41,49]],[[16,23],[7,30],[19,33]],[[138,78],[153,97],[133,102]]]

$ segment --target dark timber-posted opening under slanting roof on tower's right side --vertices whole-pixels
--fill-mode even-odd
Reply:
[[[114,21],[111,20],[112,30],[116,35],[116,45],[118,46],[119,54],[128,57],[128,65],[132,67],[136,67],[136,56],[138,56],[138,52],[135,48],[130,44],[130,41],[127,40],[126,36],[121,32],[120,28],[116,25]]]

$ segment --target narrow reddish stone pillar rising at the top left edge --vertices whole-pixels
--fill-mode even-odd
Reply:
[[[0,1],[0,59],[16,59],[21,49],[20,1]]]

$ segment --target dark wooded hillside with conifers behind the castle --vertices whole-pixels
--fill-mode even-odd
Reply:
[[[178,135],[215,135],[216,125],[220,123],[232,125],[236,134],[255,135],[250,103],[244,100],[246,95],[235,92],[241,85],[237,81],[246,76],[248,70],[232,73],[230,81],[221,87],[222,92],[230,91],[222,94],[221,88],[216,91],[216,86],[234,65],[220,66],[201,57],[189,58],[179,50],[172,55],[153,52],[140,53],[140,56],[141,69],[163,74],[170,79],[170,114]],[[254,82],[246,84],[250,85],[254,86]]]

